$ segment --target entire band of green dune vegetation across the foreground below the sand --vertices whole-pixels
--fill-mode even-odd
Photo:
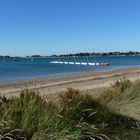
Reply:
[[[74,89],[56,100],[0,97],[0,140],[139,140],[139,88],[123,79],[98,99]]]

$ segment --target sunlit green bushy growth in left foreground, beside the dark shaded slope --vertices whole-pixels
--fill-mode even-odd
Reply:
[[[75,102],[75,106],[68,105],[69,95],[72,97],[71,101]],[[19,139],[26,137],[26,139],[33,140],[80,140],[105,137],[97,134],[94,125],[83,121],[82,114],[88,112],[88,109],[85,109],[86,106],[79,106],[82,98],[84,99],[84,96],[81,96],[79,92],[69,90],[60,97],[58,105],[54,101],[48,101],[38,94],[26,90],[21,93],[20,97],[14,97],[6,104],[2,120],[5,122],[12,120],[12,123],[8,123],[9,132],[20,130]],[[85,102],[87,102],[86,98]],[[1,135],[5,135],[7,131],[1,133]],[[17,139],[15,133],[10,136]]]

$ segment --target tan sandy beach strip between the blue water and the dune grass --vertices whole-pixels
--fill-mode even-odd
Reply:
[[[140,67],[124,68],[117,70],[104,70],[81,73],[78,76],[61,78],[37,78],[25,81],[15,81],[0,84],[1,96],[18,96],[22,90],[32,89],[41,95],[57,94],[67,88],[79,89],[82,92],[92,93],[93,90],[104,89],[123,77],[131,81],[140,78]],[[94,92],[95,93],[95,92]]]

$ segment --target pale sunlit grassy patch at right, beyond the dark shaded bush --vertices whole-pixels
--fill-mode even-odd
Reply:
[[[101,104],[115,112],[140,121],[139,80],[132,83],[127,79],[121,79],[117,81],[111,89],[105,90],[98,100]]]

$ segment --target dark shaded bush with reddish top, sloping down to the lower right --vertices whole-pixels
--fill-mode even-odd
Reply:
[[[61,102],[65,108],[75,108],[68,111],[71,114],[70,119],[82,118],[84,122],[94,124],[99,134],[103,133],[113,140],[128,140],[129,138],[131,140],[132,137],[137,140],[140,132],[137,130],[137,121],[109,110],[90,95],[82,95],[77,90],[69,89],[66,94],[62,95]]]

